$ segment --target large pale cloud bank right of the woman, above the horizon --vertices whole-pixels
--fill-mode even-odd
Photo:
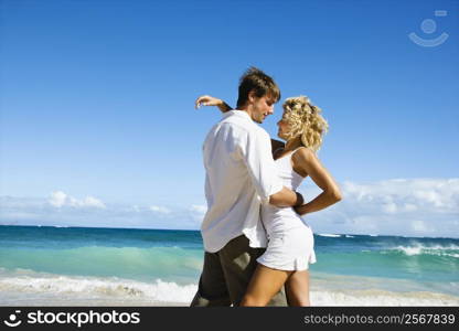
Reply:
[[[459,237],[459,179],[344,182],[341,191],[341,202],[306,215],[316,232]]]

